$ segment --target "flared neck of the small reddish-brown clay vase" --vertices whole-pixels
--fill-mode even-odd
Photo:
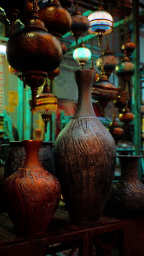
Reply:
[[[41,147],[42,141],[36,141],[36,140],[29,140],[29,141],[22,141],[22,146],[25,147],[26,150],[26,159],[22,166],[22,168],[26,169],[40,169],[43,170],[43,167],[41,167],[38,153],[39,148]]]

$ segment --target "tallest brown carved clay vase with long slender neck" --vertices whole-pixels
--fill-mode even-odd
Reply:
[[[70,220],[82,225],[99,221],[115,168],[115,142],[92,106],[94,75],[86,69],[75,72],[77,110],[55,144],[56,173]]]

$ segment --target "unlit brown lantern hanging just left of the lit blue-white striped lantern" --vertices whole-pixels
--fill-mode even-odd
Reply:
[[[71,34],[75,37],[77,44],[77,39],[86,32],[89,28],[89,20],[86,16],[81,14],[81,11],[78,10],[78,4],[76,4],[76,9],[73,15],[71,15],[72,25],[71,25]]]

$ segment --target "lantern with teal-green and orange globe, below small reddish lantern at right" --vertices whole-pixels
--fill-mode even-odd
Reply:
[[[116,74],[124,81],[128,81],[135,72],[135,65],[130,61],[129,57],[124,51],[123,59],[115,67]]]

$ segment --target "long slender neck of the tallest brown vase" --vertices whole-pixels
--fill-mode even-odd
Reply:
[[[91,97],[91,88],[95,76],[95,71],[83,69],[75,71],[75,80],[79,90],[79,98],[77,102],[76,113],[73,117],[96,117]]]

